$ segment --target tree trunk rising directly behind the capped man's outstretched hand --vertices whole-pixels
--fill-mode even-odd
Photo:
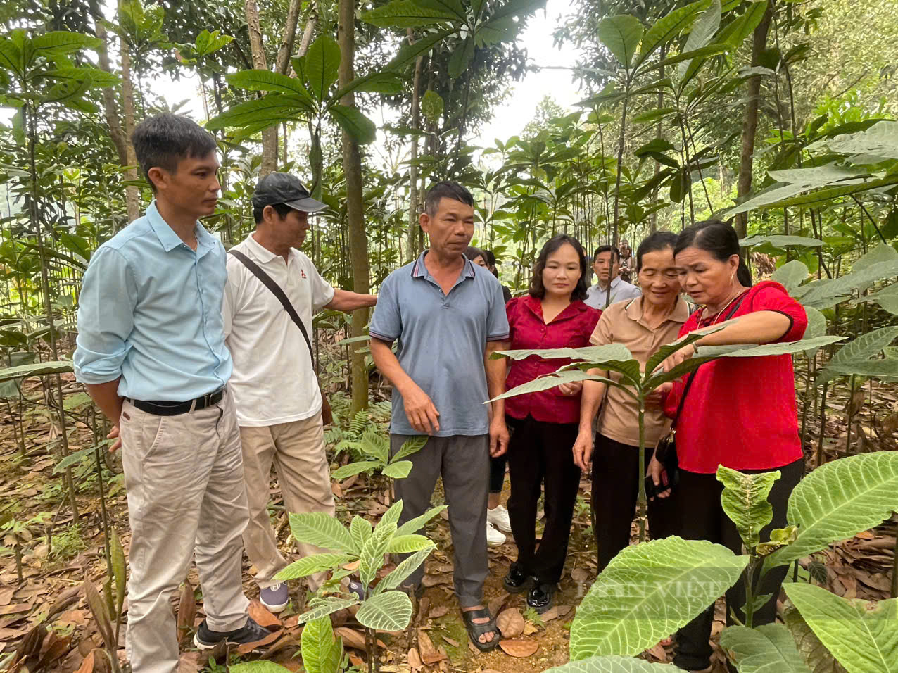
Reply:
[[[353,61],[356,54],[356,2],[339,0],[339,26],[337,41],[340,49],[339,85],[344,87],[354,77]],[[355,107],[353,93],[347,93],[340,105]],[[343,173],[346,176],[347,219],[349,257],[352,260],[353,289],[363,295],[371,290],[368,246],[365,236],[365,212],[362,203],[362,157],[358,142],[343,129]],[[360,308],[352,314],[352,336],[361,336],[368,323],[368,309]],[[365,355],[358,352],[358,343],[352,344],[352,414],[368,406],[368,370]]]

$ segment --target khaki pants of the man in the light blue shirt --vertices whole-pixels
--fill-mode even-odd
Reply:
[[[128,489],[126,650],[135,673],[175,673],[178,636],[169,600],[195,556],[207,624],[246,624],[241,535],[246,491],[231,394],[178,416],[142,412],[126,401],[120,421]],[[192,624],[191,624],[192,625]]]

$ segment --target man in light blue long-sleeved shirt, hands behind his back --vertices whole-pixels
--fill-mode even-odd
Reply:
[[[240,433],[225,385],[225,249],[199,224],[216,208],[216,141],[172,114],[132,143],[155,200],[102,244],[79,297],[75,376],[115,426],[131,526],[126,650],[135,673],[175,673],[169,599],[195,554],[207,618],[194,642],[256,642],[242,590],[247,523]],[[113,450],[117,446],[112,447]]]

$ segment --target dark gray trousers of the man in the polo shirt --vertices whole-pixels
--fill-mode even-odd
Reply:
[[[407,439],[408,435],[390,435],[391,455]],[[402,500],[400,525],[427,511],[436,478],[442,476],[452,531],[455,596],[461,607],[481,605],[483,582],[489,572],[489,435],[432,437],[407,460],[413,465],[409,476],[393,483],[396,499]],[[417,587],[423,578],[422,564],[408,581]]]

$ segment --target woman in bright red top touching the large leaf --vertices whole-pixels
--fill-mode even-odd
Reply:
[[[732,226],[709,220],[687,227],[677,239],[674,259],[682,288],[700,305],[683,324],[681,336],[701,327],[726,325],[697,341],[698,346],[797,341],[804,335],[805,309],[785,288],[772,281],[752,285]],[[691,347],[677,351],[665,361],[665,368],[691,358],[694,352]],[[688,379],[684,376],[677,381],[667,395],[668,415],[674,415]],[[781,475],[768,498],[773,520],[762,530],[762,541],[769,539],[771,529],[787,525],[788,496],[804,473],[795,400],[795,374],[788,355],[718,359],[696,370],[676,427],[680,483],[671,502],[678,512],[675,526],[679,530],[674,532],[742,553],[742,540],[720,505],[723,485],[716,477],[718,465],[753,474],[779,470]],[[656,484],[667,483],[663,468],[654,459],[649,474]],[[770,594],[770,600],[754,612],[755,625],[775,620],[786,570],[784,566],[779,572],[770,571],[755,588],[757,596]],[[735,612],[742,621],[744,603],[744,582],[740,580],[726,592],[727,615]],[[676,666],[709,670],[713,618],[711,606],[680,630],[674,652]]]

